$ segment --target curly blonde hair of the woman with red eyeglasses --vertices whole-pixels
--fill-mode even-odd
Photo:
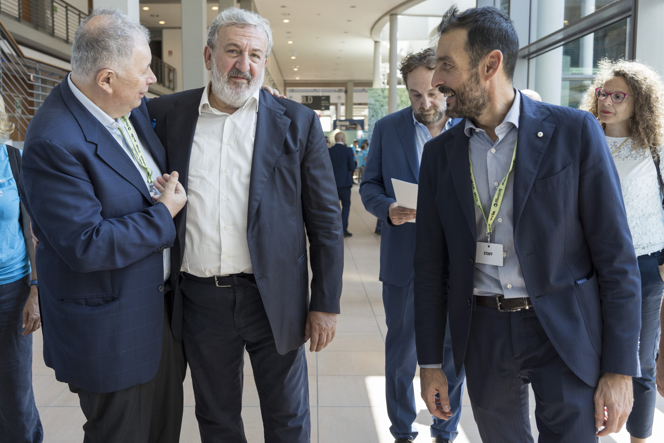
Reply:
[[[656,153],[664,144],[664,84],[662,79],[647,64],[630,60],[600,60],[598,72],[588,87],[579,108],[593,114],[598,120],[596,88],[602,88],[610,77],[622,77],[634,94],[632,114],[627,126],[627,135],[633,140],[635,149],[647,147]],[[602,128],[605,125],[602,123]],[[606,129],[606,128],[605,128]]]

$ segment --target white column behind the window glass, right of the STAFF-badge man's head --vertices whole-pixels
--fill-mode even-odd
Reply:
[[[537,3],[537,38],[562,28],[564,0],[539,0]],[[562,90],[562,46],[536,58],[535,90],[542,102],[560,104]]]

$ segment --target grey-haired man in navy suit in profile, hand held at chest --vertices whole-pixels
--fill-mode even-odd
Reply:
[[[153,132],[149,33],[117,9],[81,23],[72,74],[25,137],[20,188],[39,262],[44,361],[78,394],[86,442],[175,443],[187,364],[165,309],[187,201]]]

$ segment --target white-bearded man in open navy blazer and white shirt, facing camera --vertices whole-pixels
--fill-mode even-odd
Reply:
[[[315,112],[260,88],[271,46],[268,21],[224,9],[204,50],[211,81],[147,107],[189,194],[175,219],[173,331],[205,443],[246,442],[245,349],[265,440],[309,442],[303,344],[327,346],[339,313],[343,232],[327,144]]]

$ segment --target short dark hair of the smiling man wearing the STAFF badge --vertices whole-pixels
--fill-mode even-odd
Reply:
[[[456,29],[465,29],[468,35],[465,48],[470,57],[471,67],[492,50],[503,52],[503,70],[508,78],[513,78],[519,57],[519,37],[509,15],[493,6],[466,9],[459,13],[451,7],[438,25],[438,35]]]

